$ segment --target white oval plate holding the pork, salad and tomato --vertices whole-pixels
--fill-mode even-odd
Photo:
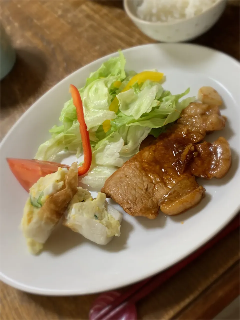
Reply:
[[[69,85],[83,86],[90,72],[116,55],[94,61],[66,77],[34,103],[1,143],[1,279],[13,287],[45,295],[73,295],[131,284],[183,259],[239,210],[239,63],[192,44],[149,44],[124,50],[127,69],[140,72],[157,68],[167,76],[164,88],[173,93],[190,86],[190,95],[197,95],[201,86],[212,86],[222,96],[221,112],[228,118],[227,126],[208,139],[227,138],[232,149],[230,171],[221,180],[199,181],[206,188],[206,197],[181,215],[165,217],[160,212],[156,220],[148,220],[125,213],[121,236],[106,246],[91,243],[61,226],[49,238],[43,253],[32,256],[27,252],[18,226],[28,195],[5,158],[33,158],[70,97]],[[74,157],[63,162],[71,164],[72,160]],[[116,208],[121,209],[117,204]]]

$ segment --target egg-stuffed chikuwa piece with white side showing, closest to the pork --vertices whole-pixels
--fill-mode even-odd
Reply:
[[[104,193],[99,192],[93,199],[88,190],[78,187],[63,224],[97,244],[107,244],[113,236],[120,236],[122,217],[107,203]]]

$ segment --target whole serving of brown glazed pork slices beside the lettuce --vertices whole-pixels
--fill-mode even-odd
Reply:
[[[159,207],[169,215],[189,209],[201,200],[205,191],[194,175],[217,177],[218,172],[223,174],[229,169],[230,149],[224,138],[219,138],[213,145],[195,145],[207,132],[224,127],[225,120],[217,106],[190,104],[177,124],[126,161],[106,180],[101,191],[133,216],[154,219]],[[218,152],[219,144],[222,150],[227,149],[226,157]],[[206,157],[211,158],[208,165],[205,164]],[[204,168],[197,172],[202,164]]]

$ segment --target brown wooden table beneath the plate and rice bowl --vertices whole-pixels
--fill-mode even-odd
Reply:
[[[239,7],[194,40],[239,59]],[[121,1],[1,1],[17,60],[1,82],[1,137],[43,93],[74,70],[119,48],[152,43]],[[239,230],[137,305],[139,319],[210,319],[239,294]],[[1,319],[87,319],[96,295],[42,297],[1,284]]]

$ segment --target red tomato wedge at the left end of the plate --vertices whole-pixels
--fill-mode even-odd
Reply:
[[[39,178],[56,172],[58,167],[69,168],[69,165],[66,164],[36,159],[7,158],[7,162],[14,176],[27,192]]]

